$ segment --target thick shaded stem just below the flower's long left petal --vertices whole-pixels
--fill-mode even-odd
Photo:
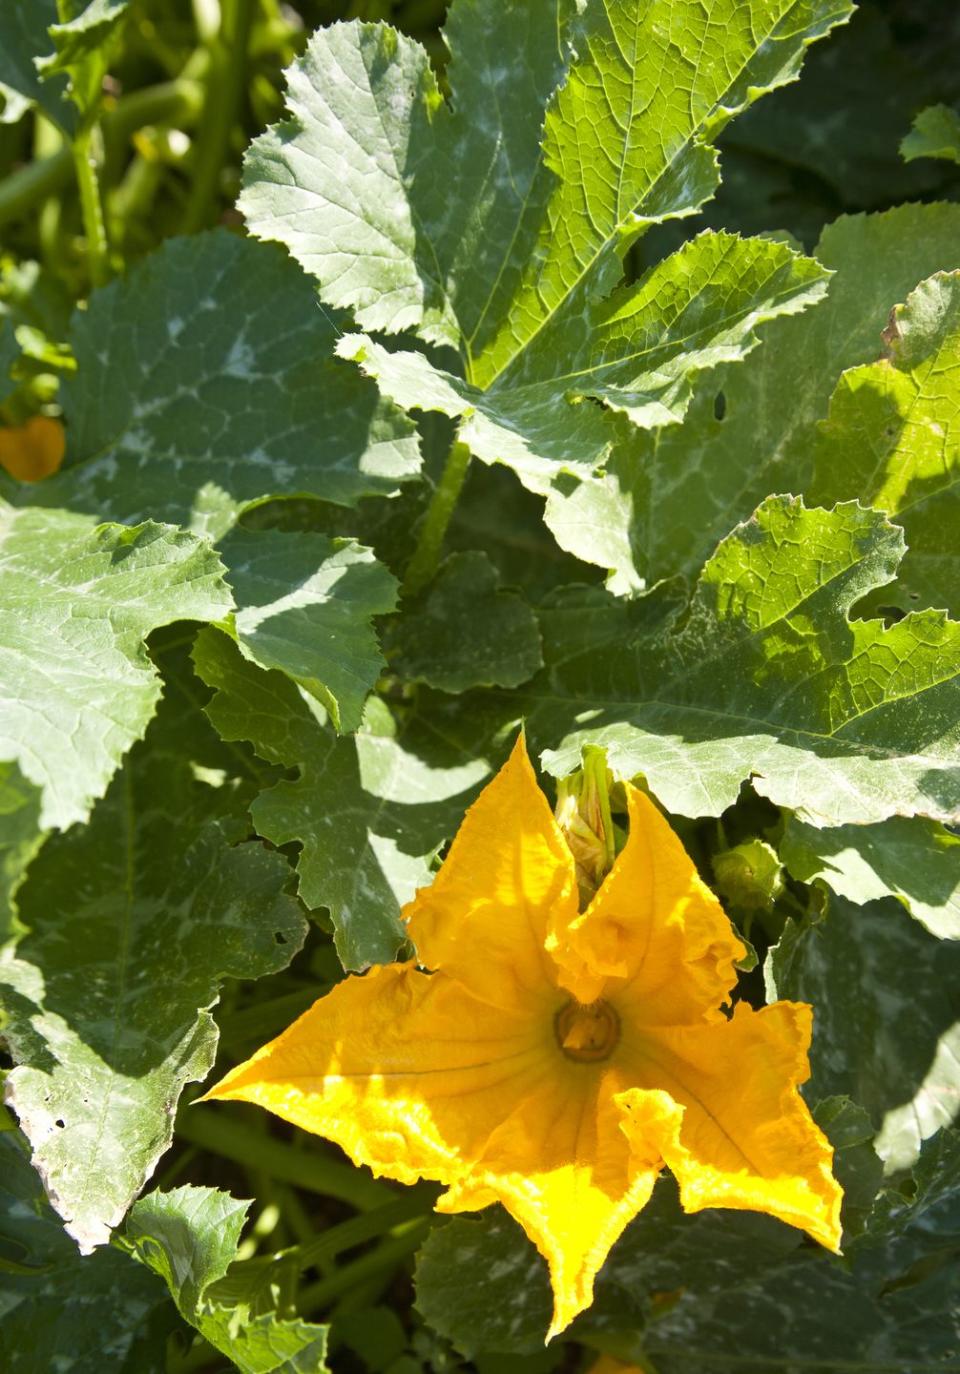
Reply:
[[[233,1160],[246,1168],[261,1168],[282,1183],[293,1183],[306,1193],[339,1198],[360,1210],[368,1210],[393,1198],[393,1190],[361,1173],[350,1164],[327,1160],[310,1150],[298,1150],[273,1136],[261,1136],[243,1125],[222,1107],[213,1112],[188,1107],[177,1118],[177,1136],[205,1150]]]

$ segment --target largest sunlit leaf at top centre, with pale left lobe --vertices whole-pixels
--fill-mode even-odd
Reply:
[[[363,328],[459,350],[446,367],[363,334],[338,348],[385,396],[460,419],[477,456],[547,495],[607,456],[608,416],[585,401],[677,420],[699,372],[823,295],[819,264],[732,235],[614,287],[644,227],[713,194],[728,120],[792,80],[850,12],[847,0],[538,0],[508,5],[504,45],[483,4],[460,0],[445,30],[450,103],[418,44],[335,25],[290,70],[291,120],[255,140],[240,205]]]

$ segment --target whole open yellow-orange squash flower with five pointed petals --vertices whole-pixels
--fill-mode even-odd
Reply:
[[[549,1265],[548,1340],[663,1165],[688,1212],[768,1212],[839,1246],[832,1151],[797,1091],[810,1007],[724,1014],[743,945],[656,807],[628,800],[581,912],[518,741],[404,911],[418,960],[346,978],[209,1094],[444,1183],[439,1212],[503,1202]]]

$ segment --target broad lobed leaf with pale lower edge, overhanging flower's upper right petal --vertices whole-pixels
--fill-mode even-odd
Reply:
[[[559,594],[540,611],[548,666],[525,694],[537,741],[562,739],[545,767],[564,776],[603,745],[618,776],[643,775],[684,816],[720,815],[750,776],[814,824],[957,816],[960,625],[849,618],[901,555],[876,511],[775,496],[687,606],[670,587]]]

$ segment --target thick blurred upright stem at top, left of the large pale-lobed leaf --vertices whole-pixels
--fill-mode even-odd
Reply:
[[[196,234],[216,218],[220,173],[229,157],[229,136],[246,87],[254,7],[254,0],[221,0],[220,29],[216,34],[205,34],[210,66],[183,234]]]

